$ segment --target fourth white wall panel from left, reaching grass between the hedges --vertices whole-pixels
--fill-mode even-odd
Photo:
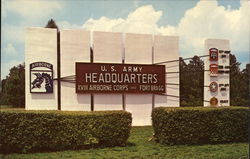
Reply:
[[[125,64],[152,64],[152,35],[125,34]],[[126,94],[133,125],[151,125],[152,94]]]

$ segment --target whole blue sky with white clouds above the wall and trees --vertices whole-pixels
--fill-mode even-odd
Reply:
[[[26,27],[179,36],[180,56],[204,55],[208,38],[228,39],[249,63],[249,0],[1,0],[1,79],[24,62]]]

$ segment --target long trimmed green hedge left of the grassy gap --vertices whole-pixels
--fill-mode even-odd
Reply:
[[[0,111],[0,152],[122,146],[131,123],[125,111]]]

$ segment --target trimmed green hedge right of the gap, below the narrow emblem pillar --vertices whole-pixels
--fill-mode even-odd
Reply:
[[[155,108],[152,123],[162,144],[216,144],[248,141],[249,110],[243,107]]]

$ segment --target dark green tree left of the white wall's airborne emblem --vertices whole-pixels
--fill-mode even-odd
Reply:
[[[10,69],[9,75],[2,80],[1,102],[14,107],[25,105],[25,68],[19,64]]]

